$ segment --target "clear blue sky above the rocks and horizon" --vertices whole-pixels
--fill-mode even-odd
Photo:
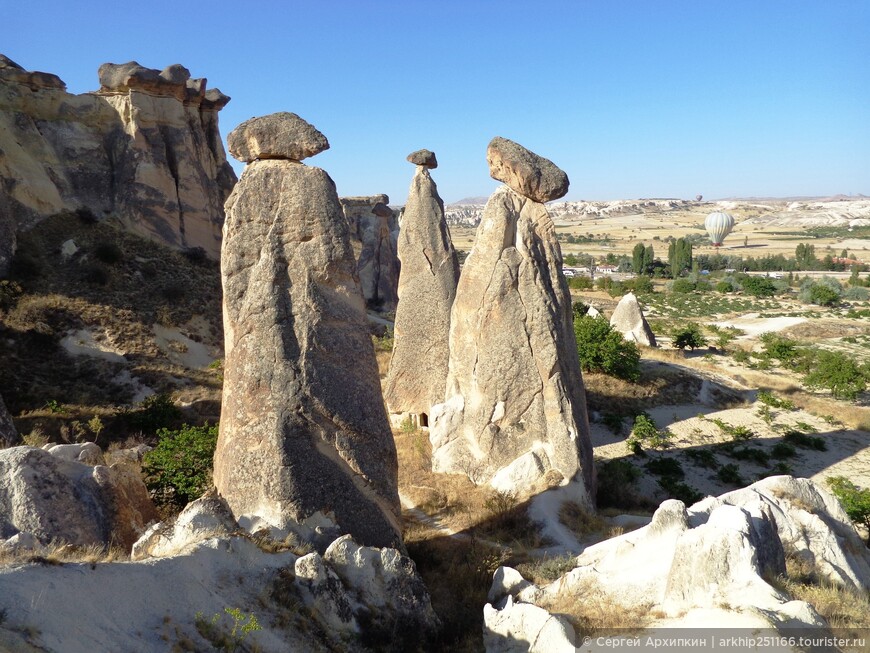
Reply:
[[[423,147],[445,201],[486,195],[496,135],[568,199],[870,194],[867,0],[0,0],[0,52],[76,93],[181,63],[232,96],[224,137],[314,124],[341,195],[403,203]]]

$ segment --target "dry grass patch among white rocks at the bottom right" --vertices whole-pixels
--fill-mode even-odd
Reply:
[[[550,614],[567,617],[581,638],[637,631],[660,616],[650,610],[652,603],[623,605],[591,579],[573,587],[570,594],[560,592],[542,602],[541,607]]]

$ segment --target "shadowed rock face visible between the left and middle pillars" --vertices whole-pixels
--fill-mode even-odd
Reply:
[[[391,311],[399,300],[399,222],[387,206],[386,195],[342,197],[341,208],[350,225],[351,245],[363,297],[370,308]]]

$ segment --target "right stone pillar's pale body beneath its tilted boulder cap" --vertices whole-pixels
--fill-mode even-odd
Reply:
[[[563,483],[582,481],[592,503],[586,397],[561,269],[546,208],[499,188],[453,303],[446,399],[432,408],[435,471],[526,491],[555,470]]]

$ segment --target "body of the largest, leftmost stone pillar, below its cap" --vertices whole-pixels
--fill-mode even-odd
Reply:
[[[245,528],[401,546],[395,445],[333,181],[290,161],[248,165],[221,263],[218,491]]]

